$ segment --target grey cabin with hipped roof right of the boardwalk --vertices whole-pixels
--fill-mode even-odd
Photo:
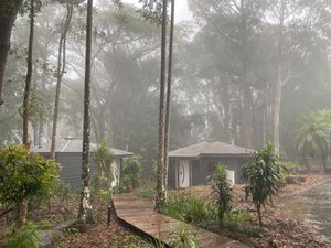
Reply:
[[[242,182],[242,166],[254,160],[254,150],[223,142],[201,142],[169,152],[168,185],[172,188],[204,185],[217,163],[233,183]]]

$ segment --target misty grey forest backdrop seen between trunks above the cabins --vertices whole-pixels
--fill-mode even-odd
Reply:
[[[300,120],[331,104],[330,13],[320,8],[324,3],[266,1],[245,7],[248,15],[243,20],[241,9],[231,3],[190,2],[190,10],[186,1],[179,1],[175,9],[170,149],[215,140],[260,149],[270,140],[287,158],[298,159]],[[92,138],[151,161],[157,153],[160,26],[142,20],[139,8],[131,0],[121,9],[102,0],[96,4]],[[30,122],[34,145],[50,142],[64,11],[51,4],[36,14],[38,106]],[[74,8],[67,34],[58,121],[60,137],[77,139],[82,138],[84,11],[84,4]],[[20,141],[28,24],[26,14],[18,18],[11,39],[2,143]]]

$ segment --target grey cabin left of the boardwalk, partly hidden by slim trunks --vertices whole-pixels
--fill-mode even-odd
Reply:
[[[40,153],[44,158],[51,158],[51,144],[46,144],[43,148],[34,149],[34,152]],[[81,187],[81,173],[82,173],[82,150],[83,141],[72,137],[61,139],[56,142],[55,158],[61,164],[60,179],[70,184],[73,188]],[[94,176],[97,173],[97,162],[95,159],[95,151],[97,144],[90,143],[90,175]],[[119,185],[121,177],[121,170],[125,159],[132,157],[134,154],[128,151],[111,148],[114,155],[113,173],[114,181],[113,186]]]

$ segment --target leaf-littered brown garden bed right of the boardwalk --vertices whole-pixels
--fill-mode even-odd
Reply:
[[[258,225],[253,203],[245,201],[244,185],[236,185],[234,188],[234,208],[237,213],[243,214],[234,215],[235,217],[232,218],[235,219],[227,220],[222,228],[215,222],[197,223],[196,225],[257,248],[329,248],[331,247],[330,240],[319,235],[312,226],[307,226],[292,218],[286,209],[281,208],[282,197],[302,192],[320,183],[328,175],[308,174],[305,177],[305,182],[286,185],[275,197],[274,204],[263,211],[265,222],[263,228]],[[171,191],[171,195],[197,195],[204,203],[207,203],[212,200],[212,188],[211,186],[195,186]]]

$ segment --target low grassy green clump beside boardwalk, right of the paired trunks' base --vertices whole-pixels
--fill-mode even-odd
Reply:
[[[161,213],[185,223],[203,223],[215,218],[215,209],[212,204],[197,195],[177,194],[168,197]]]

